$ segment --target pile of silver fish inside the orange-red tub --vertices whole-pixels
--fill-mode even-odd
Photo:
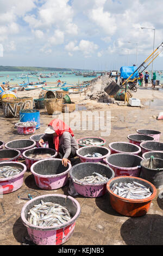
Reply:
[[[117,196],[128,199],[144,199],[150,197],[152,192],[149,187],[133,182],[115,182],[111,187]]]

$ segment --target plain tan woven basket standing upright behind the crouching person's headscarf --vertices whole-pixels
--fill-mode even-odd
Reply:
[[[49,115],[62,113],[62,99],[45,99],[45,108]]]

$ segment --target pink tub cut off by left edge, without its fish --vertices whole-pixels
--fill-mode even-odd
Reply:
[[[13,166],[22,169],[20,174],[17,174],[11,178],[0,179],[0,191],[1,194],[8,194],[18,190],[23,185],[24,173],[27,167],[23,163],[19,162],[0,162],[0,167],[2,166]]]

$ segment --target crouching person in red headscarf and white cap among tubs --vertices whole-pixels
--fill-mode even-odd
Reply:
[[[73,131],[60,119],[54,119],[48,124],[45,135],[39,141],[41,147],[46,141],[49,148],[57,150],[64,166],[67,166],[70,159],[77,155],[78,144],[74,139]]]

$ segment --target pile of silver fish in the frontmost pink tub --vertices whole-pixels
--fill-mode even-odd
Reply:
[[[40,227],[56,227],[70,220],[70,212],[65,206],[43,200],[40,204],[34,205],[27,214],[27,221]]]

